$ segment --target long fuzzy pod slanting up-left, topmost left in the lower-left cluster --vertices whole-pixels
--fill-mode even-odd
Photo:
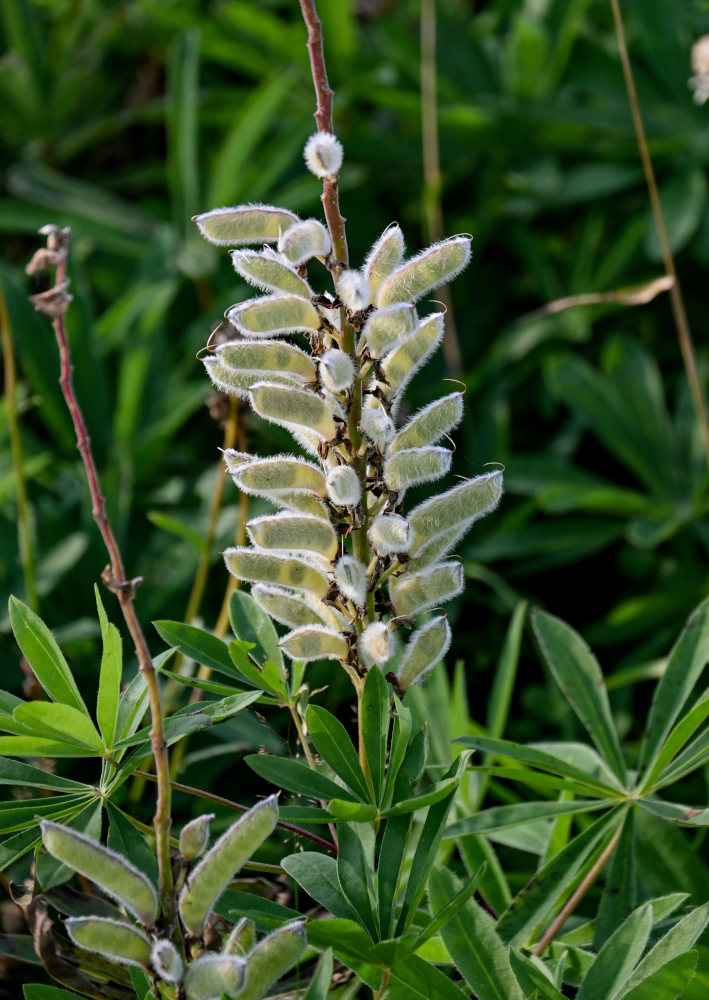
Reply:
[[[127,910],[150,926],[158,915],[158,897],[147,875],[121,854],[70,827],[50,820],[40,821],[42,841],[52,857],[95,882]]]

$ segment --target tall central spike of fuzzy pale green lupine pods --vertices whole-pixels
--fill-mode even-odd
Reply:
[[[305,156],[328,176],[341,147],[317,133]],[[402,693],[448,649],[446,615],[418,627],[417,616],[461,592],[463,567],[450,553],[502,492],[496,469],[405,509],[410,487],[449,471],[452,450],[441,442],[463,415],[452,392],[397,422],[408,382],[443,338],[443,313],[421,315],[417,302],[465,268],[470,237],[407,260],[393,224],[350,270],[320,221],[283,208],[218,208],[195,221],[212,243],[235,248],[234,269],[264,293],[227,310],[231,336],[205,357],[209,376],[298,446],[271,457],[225,452],[238,488],[277,508],[248,523],[251,544],[228,549],[227,567],[290,629],[286,655],[338,660],[360,676],[376,663]],[[331,291],[311,286],[315,260]],[[394,641],[402,626],[413,629],[403,654]]]

